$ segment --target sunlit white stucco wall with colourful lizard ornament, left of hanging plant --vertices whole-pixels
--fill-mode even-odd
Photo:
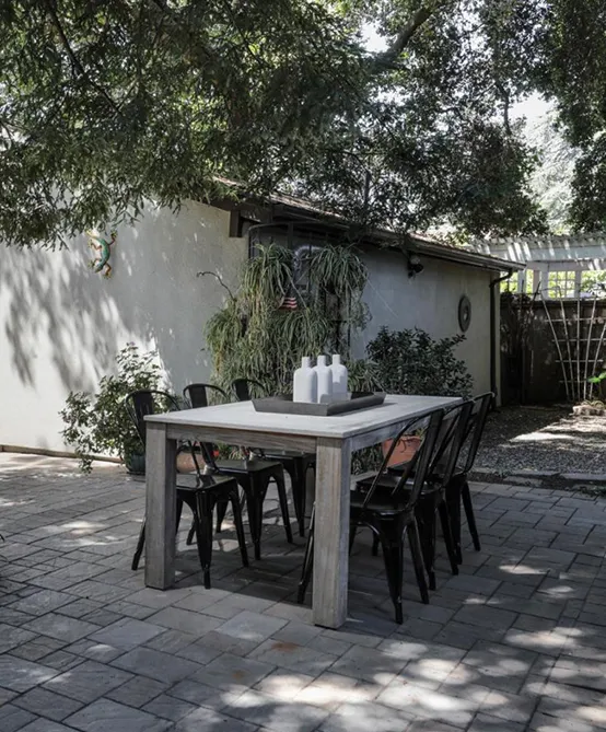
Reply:
[[[68,393],[94,390],[127,342],[156,348],[176,390],[210,376],[202,330],[225,291],[196,274],[233,286],[247,247],[230,239],[228,212],[191,202],[118,228],[110,279],[88,267],[85,236],[0,254],[0,445],[63,450]]]

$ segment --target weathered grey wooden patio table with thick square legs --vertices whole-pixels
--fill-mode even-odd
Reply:
[[[255,411],[252,402],[145,417],[145,584],[175,579],[177,440],[223,442],[317,454],[313,621],[338,628],[347,617],[351,453],[394,438],[415,417],[459,402],[387,395],[378,407],[334,417]]]

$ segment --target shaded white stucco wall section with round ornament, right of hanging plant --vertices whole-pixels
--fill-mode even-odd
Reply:
[[[489,283],[497,272],[421,257],[423,271],[409,278],[406,259],[399,253],[369,249],[363,258],[369,268],[364,300],[372,319],[365,330],[354,337],[353,355],[361,358],[365,345],[383,325],[393,330],[419,327],[433,338],[461,333],[458,301],[466,294],[471,302],[471,322],[457,356],[466,362],[474,379],[474,392],[489,391]]]

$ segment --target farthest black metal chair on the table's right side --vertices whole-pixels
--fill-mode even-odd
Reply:
[[[476,516],[474,515],[474,507],[471,504],[471,492],[469,490],[469,473],[474,467],[474,462],[478,452],[483,428],[486,426],[486,418],[490,409],[494,395],[492,392],[480,394],[471,399],[471,411],[469,414],[462,449],[459,456],[463,461],[457,464],[453,470],[453,475],[446,485],[446,503],[448,506],[448,515],[451,516],[451,528],[453,533],[453,542],[455,546],[456,560],[461,565],[463,562],[463,554],[461,550],[461,504],[465,510],[467,518],[467,526],[471,534],[474,548],[479,551],[480,537],[476,525]]]

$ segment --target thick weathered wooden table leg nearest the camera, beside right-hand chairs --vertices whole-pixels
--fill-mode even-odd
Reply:
[[[318,438],[313,620],[327,628],[347,618],[350,473],[350,441]]]

